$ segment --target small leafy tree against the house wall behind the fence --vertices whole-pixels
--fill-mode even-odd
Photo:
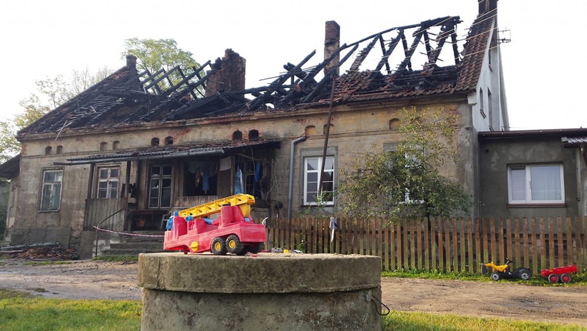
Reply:
[[[402,140],[394,151],[374,146],[357,159],[357,170],[340,171],[337,194],[343,210],[360,217],[390,218],[466,212],[470,196],[439,172],[446,163],[458,164],[458,152],[451,146],[454,116],[415,108],[404,108],[399,115]]]

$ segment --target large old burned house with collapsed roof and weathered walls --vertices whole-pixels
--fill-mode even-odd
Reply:
[[[18,133],[21,155],[0,166],[14,197],[8,238],[92,246],[93,226],[161,229],[171,210],[235,193],[255,196],[255,219],[297,216],[316,205],[319,182],[333,192],[337,169],[398,141],[397,110],[409,107],[458,116],[463,162],[442,171],[477,196],[477,132],[508,128],[497,0],[478,3],[462,40],[458,16],[342,45],[326,22],[324,58],[287,62],[258,88],[245,88],[245,60],[231,49],[168,72],[139,72],[129,55]]]

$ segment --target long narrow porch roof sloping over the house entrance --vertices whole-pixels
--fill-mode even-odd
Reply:
[[[158,146],[117,151],[114,153],[90,155],[85,158],[67,159],[68,162],[55,162],[55,165],[81,165],[90,163],[106,163],[120,161],[136,161],[147,159],[170,159],[186,156],[221,155],[225,151],[238,148],[269,147],[278,148],[284,139],[260,139],[257,141],[237,141],[219,143],[199,143],[177,146]]]

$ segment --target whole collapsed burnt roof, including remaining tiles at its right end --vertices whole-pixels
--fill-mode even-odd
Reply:
[[[244,59],[231,49],[224,58],[189,72],[178,66],[167,72],[137,72],[136,58],[127,56],[126,66],[32,123],[19,136],[271,109],[295,111],[327,105],[331,98],[336,104],[470,91],[479,78],[496,10],[480,9],[461,52],[456,32],[459,16],[397,26],[343,45],[338,45],[336,22],[326,22],[323,61],[309,66],[316,54],[313,51],[295,65],[286,63],[286,72],[258,88],[244,88]],[[423,52],[416,52],[421,48]],[[414,69],[414,57],[420,54],[425,56],[425,63],[421,69]],[[339,76],[339,68],[353,55],[349,69]],[[376,65],[365,68],[365,59],[374,56],[376,61],[369,63]],[[448,64],[439,66],[439,61]],[[228,78],[235,72],[242,78]],[[169,78],[173,75],[180,76],[180,81],[172,83]],[[202,89],[206,89],[205,95]]]

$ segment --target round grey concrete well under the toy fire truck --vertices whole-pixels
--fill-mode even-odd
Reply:
[[[141,330],[381,330],[381,259],[139,255]]]

